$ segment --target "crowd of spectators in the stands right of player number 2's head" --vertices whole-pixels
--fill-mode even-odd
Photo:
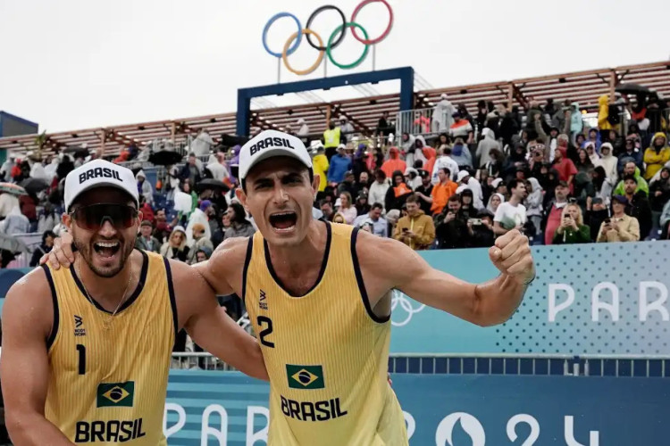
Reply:
[[[570,101],[525,113],[482,101],[473,115],[442,95],[424,133],[388,150],[367,135],[352,144],[333,120],[314,148],[314,215],[415,250],[490,246],[511,229],[532,244],[667,239],[666,108],[655,94],[602,95],[589,127]],[[392,131],[385,115],[372,140]]]

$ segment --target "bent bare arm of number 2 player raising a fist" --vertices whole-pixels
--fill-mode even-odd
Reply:
[[[512,247],[510,244],[509,249]],[[373,239],[362,232],[356,242],[356,252],[373,308],[382,298],[389,299],[386,295],[389,289],[397,288],[416,301],[478,326],[505,322],[521,304],[527,285],[523,285],[525,280],[522,276],[513,273],[523,271],[523,276],[527,276],[534,271],[532,258],[528,257],[529,263],[525,257],[530,249],[525,249],[519,249],[507,259],[506,265],[520,260],[509,268],[510,274],[501,274],[488,282],[473,285],[431,268],[419,254],[404,244],[389,239]],[[379,252],[385,253],[383,262],[379,260]]]

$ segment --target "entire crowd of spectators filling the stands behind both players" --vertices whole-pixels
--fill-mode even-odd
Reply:
[[[329,122],[321,138],[310,137],[302,119],[297,133],[285,130],[312,150],[321,178],[315,219],[415,250],[486,247],[514,228],[532,244],[638,241],[668,237],[665,110],[653,94],[633,105],[604,95],[598,127],[589,128],[578,103],[531,100],[522,112],[480,102],[471,114],[442,95],[423,134],[392,139],[386,113],[371,133],[356,133],[346,117]],[[189,142],[185,162],[166,166],[157,180],[145,172],[146,148],[131,146],[113,161],[136,173],[144,215],[138,248],[192,264],[226,238],[253,234],[255,224],[235,199],[240,146],[216,145],[204,130]],[[65,176],[100,156],[81,148],[44,160],[10,154],[0,168],[0,181],[45,185],[0,193],[0,232],[43,235],[31,266],[61,229]],[[203,186],[207,179],[222,186]],[[176,211],[185,196],[190,205]],[[11,260],[3,252],[3,267]]]

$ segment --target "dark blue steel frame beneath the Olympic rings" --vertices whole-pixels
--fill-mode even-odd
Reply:
[[[249,136],[251,123],[250,105],[251,99],[267,95],[285,95],[300,91],[329,89],[333,87],[345,87],[358,84],[377,83],[383,80],[400,80],[400,110],[410,110],[414,106],[414,83],[415,70],[412,67],[392,68],[389,70],[366,71],[364,73],[345,74],[332,78],[318,78],[310,80],[298,80],[284,84],[273,84],[261,87],[249,87],[238,89],[238,114],[237,129],[238,136]]]

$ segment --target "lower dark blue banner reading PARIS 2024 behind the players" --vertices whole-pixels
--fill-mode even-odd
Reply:
[[[392,379],[411,445],[670,442],[669,379],[453,375]],[[268,395],[267,384],[238,373],[172,371],[163,429],[168,443],[264,445]]]

